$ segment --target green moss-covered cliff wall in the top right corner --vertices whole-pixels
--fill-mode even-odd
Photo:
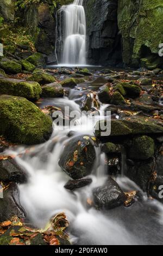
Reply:
[[[162,23],[162,0],[118,1],[118,27],[122,34],[124,63],[139,65],[145,52],[159,58],[159,44],[163,41]]]

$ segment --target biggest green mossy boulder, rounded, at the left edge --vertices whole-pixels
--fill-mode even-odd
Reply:
[[[0,134],[8,140],[27,145],[49,139],[52,121],[25,98],[0,96]]]

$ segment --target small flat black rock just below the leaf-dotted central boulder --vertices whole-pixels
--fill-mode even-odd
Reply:
[[[70,180],[66,183],[65,188],[68,190],[74,190],[77,188],[83,188],[85,186],[88,186],[91,184],[92,179],[91,178],[85,178],[83,180]]]

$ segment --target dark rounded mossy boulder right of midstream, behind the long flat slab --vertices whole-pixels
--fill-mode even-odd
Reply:
[[[120,85],[123,87],[124,91],[126,91],[128,97],[137,98],[140,96],[141,88],[139,86],[128,82],[122,82]]]

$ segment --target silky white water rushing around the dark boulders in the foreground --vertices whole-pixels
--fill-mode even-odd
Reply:
[[[55,106],[70,106],[71,110],[80,111],[79,105],[68,98],[52,99]],[[47,104],[47,103],[46,103]],[[104,108],[104,106],[103,106]],[[101,118],[103,118],[101,116]],[[83,124],[82,124],[83,122]],[[92,183],[75,192],[64,188],[70,177],[58,165],[64,145],[71,140],[66,134],[67,128],[61,131],[54,127],[54,132],[45,144],[32,147],[18,147],[16,161],[27,170],[28,183],[21,184],[21,204],[27,212],[28,221],[36,227],[44,228],[49,218],[56,213],[65,212],[70,221],[71,241],[79,245],[148,245],[162,241],[162,206],[155,200],[150,203],[144,198],[142,203],[135,203],[129,208],[117,207],[109,211],[98,211],[88,207],[87,199],[92,198],[92,189],[104,184],[107,175],[104,164],[104,153],[97,148],[97,158],[93,168]],[[93,135],[92,123],[83,117],[75,127],[76,135]],[[88,132],[89,130],[89,132]],[[73,137],[72,137],[73,139]],[[18,153],[22,153],[21,158]],[[119,177],[117,182],[122,189],[139,189],[126,177]],[[140,190],[140,189],[139,189]],[[154,211],[159,210],[154,215]],[[154,208],[154,209],[153,209]],[[159,214],[160,216],[159,216]]]

